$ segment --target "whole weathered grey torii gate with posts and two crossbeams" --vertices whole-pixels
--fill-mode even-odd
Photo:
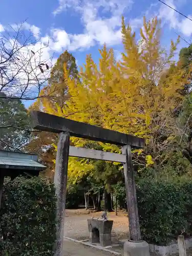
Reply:
[[[143,148],[144,139],[40,111],[32,111],[31,116],[34,129],[59,134],[54,174],[58,223],[55,256],[63,256],[63,228],[69,156],[123,163],[130,233],[130,239],[127,241],[129,244],[124,244],[124,255],[149,255],[148,244],[141,240],[131,154],[131,148]],[[70,136],[119,145],[122,148],[122,154],[70,146]],[[136,248],[137,252],[135,249],[133,251],[133,248],[138,246],[140,248],[139,254],[138,248]]]

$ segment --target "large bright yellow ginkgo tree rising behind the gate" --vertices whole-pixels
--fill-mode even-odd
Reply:
[[[68,97],[65,104],[57,102],[48,107],[44,99],[44,111],[61,117],[101,126],[143,137],[146,146],[136,151],[137,164],[157,165],[168,156],[175,143],[173,119],[183,100],[180,93],[187,77],[175,62],[177,44],[170,48],[161,46],[161,23],[155,17],[147,21],[144,17],[140,40],[131,26],[122,18],[123,52],[119,61],[113,49],[106,45],[99,50],[98,64],[91,55],[80,69],[78,79],[70,76],[66,63],[63,65]],[[102,148],[104,151],[120,153],[115,145],[71,138],[75,146]],[[167,152],[163,155],[162,152]],[[91,161],[70,159],[69,177],[77,182],[82,175],[93,169]]]

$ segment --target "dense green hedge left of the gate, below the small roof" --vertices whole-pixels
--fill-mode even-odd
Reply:
[[[38,177],[4,184],[0,255],[52,256],[55,242],[54,185]]]

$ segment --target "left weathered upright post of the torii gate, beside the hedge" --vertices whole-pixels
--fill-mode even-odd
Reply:
[[[70,134],[61,132],[57,144],[54,184],[57,197],[57,238],[55,256],[63,256],[63,231],[66,208]]]

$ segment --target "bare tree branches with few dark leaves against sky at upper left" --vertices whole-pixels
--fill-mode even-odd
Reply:
[[[25,23],[25,22],[24,22]],[[0,92],[1,98],[34,100],[47,85],[51,58],[42,59],[42,53],[49,47],[34,40],[33,34],[24,33],[22,26],[10,26],[0,38]],[[48,63],[49,62],[49,65]]]

